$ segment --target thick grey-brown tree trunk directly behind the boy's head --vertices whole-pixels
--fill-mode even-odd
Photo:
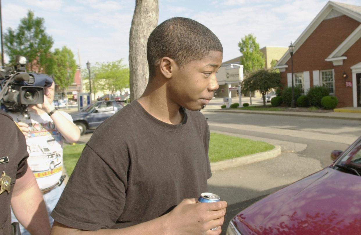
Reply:
[[[158,0],[136,0],[129,35],[130,100],[138,99],[148,83],[147,40],[158,24]]]

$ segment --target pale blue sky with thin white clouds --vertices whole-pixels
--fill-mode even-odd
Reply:
[[[361,0],[338,0],[361,5]],[[135,0],[3,0],[3,30],[17,28],[32,10],[45,19],[54,48],[69,47],[77,63],[123,59],[128,65]],[[287,47],[305,30],[326,0],[159,0],[158,23],[175,16],[199,21],[223,45],[223,61],[240,56],[238,42],[253,33],[260,47]],[[79,51],[79,53],[78,53]],[[5,57],[6,58],[6,57]]]

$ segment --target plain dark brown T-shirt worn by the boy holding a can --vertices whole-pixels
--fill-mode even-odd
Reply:
[[[134,101],[102,123],[51,216],[82,230],[123,228],[206,192],[209,127],[201,112],[182,111],[171,125]]]

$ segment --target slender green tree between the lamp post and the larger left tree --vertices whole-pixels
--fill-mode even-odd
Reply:
[[[67,94],[68,87],[74,82],[74,75],[78,67],[74,60],[74,54],[64,46],[61,50],[56,48],[53,57],[55,61],[53,70],[55,83]],[[68,105],[68,103],[66,104]]]

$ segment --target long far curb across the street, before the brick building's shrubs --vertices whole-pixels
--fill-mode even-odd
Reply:
[[[240,110],[240,111],[231,111],[231,110],[219,110],[219,109],[208,109],[204,110],[205,112],[218,112],[218,113],[245,113],[245,114],[267,114],[267,115],[278,115],[278,116],[293,116],[293,117],[310,117],[310,118],[331,118],[331,119],[343,119],[343,120],[355,120],[360,121],[361,117],[332,117],[332,116],[326,116],[326,115],[312,115],[312,114],[297,114],[297,112],[294,113],[269,113],[267,111],[250,111],[249,112]],[[278,112],[278,111],[275,111]],[[291,112],[291,111],[290,111]]]

